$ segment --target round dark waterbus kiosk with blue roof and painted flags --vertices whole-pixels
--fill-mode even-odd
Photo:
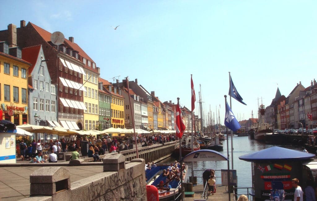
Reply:
[[[270,200],[270,190],[284,190],[286,200],[294,198],[291,181],[302,178],[302,161],[314,158],[315,154],[295,151],[278,146],[240,156],[239,159],[252,162],[252,187],[255,201]]]

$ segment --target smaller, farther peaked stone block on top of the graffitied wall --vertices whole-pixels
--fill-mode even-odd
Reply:
[[[120,153],[107,154],[103,158],[103,172],[118,172],[119,170],[125,169],[125,161],[126,157]]]

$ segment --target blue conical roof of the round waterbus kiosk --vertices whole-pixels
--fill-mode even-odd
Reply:
[[[292,149],[282,148],[279,146],[273,146],[267,149],[263,149],[258,152],[253,152],[240,156],[240,160],[245,161],[264,161],[264,160],[295,160],[302,161],[314,158],[315,154],[295,151]]]

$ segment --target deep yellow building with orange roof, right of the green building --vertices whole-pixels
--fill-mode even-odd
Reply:
[[[111,127],[124,128],[124,97],[121,93],[121,89],[113,87],[107,80],[100,79],[100,81],[111,93]]]

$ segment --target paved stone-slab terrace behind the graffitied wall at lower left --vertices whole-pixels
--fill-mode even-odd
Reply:
[[[70,172],[70,182],[103,172],[102,165],[63,167]],[[0,200],[11,201],[29,197],[30,174],[39,168],[41,167],[0,167]]]

